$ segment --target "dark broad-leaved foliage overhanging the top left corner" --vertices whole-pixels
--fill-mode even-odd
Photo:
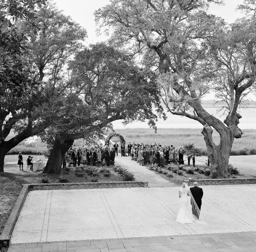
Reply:
[[[1,1],[0,3],[0,100],[11,94],[28,100],[32,93],[43,96],[39,76],[32,75],[32,60],[27,56],[27,42],[36,33],[37,7],[45,0]],[[30,29],[20,31],[19,22],[26,20]]]

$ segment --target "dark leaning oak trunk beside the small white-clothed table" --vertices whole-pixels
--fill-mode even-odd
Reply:
[[[55,139],[54,146],[52,148],[52,151],[50,153],[49,159],[47,161],[43,173],[61,173],[61,165],[63,163],[65,153],[73,145],[73,142],[73,139],[67,139],[64,142],[61,142],[57,138]]]

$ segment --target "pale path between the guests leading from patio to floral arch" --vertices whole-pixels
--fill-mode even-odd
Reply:
[[[154,171],[148,170],[145,166],[139,165],[135,161],[131,161],[131,157],[115,157],[115,165],[120,165],[123,168],[131,171],[137,181],[148,182],[149,187],[171,187],[177,186],[160,175],[156,174]]]

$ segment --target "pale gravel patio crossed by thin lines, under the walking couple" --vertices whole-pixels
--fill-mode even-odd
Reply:
[[[178,187],[29,192],[11,243],[256,231],[256,186],[203,186],[208,225],[176,222]]]

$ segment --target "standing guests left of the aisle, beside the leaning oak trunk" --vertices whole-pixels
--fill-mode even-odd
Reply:
[[[100,145],[73,145],[67,152],[67,155],[70,156],[70,159],[73,161],[73,166],[80,166],[81,162],[88,162],[88,165],[95,166],[96,162],[102,162],[105,160],[107,165],[108,162],[115,161],[115,148],[101,143]],[[114,164],[114,163],[113,163]]]

